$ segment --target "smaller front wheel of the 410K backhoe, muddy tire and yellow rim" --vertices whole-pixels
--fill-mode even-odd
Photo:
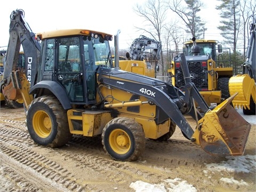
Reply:
[[[102,131],[104,150],[116,161],[136,161],[146,146],[142,126],[128,117],[116,117]]]

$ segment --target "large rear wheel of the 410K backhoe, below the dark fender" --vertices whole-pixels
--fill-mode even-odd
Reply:
[[[30,103],[27,127],[30,137],[41,146],[61,147],[72,137],[66,110],[52,96],[39,97]]]

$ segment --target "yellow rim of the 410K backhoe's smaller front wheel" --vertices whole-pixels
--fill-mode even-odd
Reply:
[[[131,139],[124,130],[116,129],[109,135],[109,145],[115,153],[125,154],[131,148]]]

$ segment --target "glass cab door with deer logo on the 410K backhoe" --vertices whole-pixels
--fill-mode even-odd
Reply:
[[[79,36],[59,38],[56,42],[55,79],[64,87],[71,103],[84,104],[84,80]]]

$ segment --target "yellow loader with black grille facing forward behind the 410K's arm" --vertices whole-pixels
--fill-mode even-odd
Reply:
[[[184,43],[182,52],[188,61],[191,81],[209,106],[211,103],[219,104],[230,96],[228,81],[233,76],[233,68],[228,67],[229,60],[220,57],[222,45],[218,41],[193,37],[192,41]],[[170,82],[182,91],[185,90],[179,55],[173,57],[167,72]]]

